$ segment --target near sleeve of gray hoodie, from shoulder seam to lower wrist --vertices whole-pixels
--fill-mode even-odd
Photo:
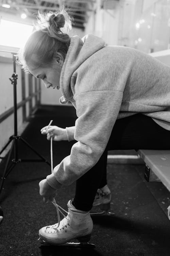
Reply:
[[[121,106],[121,91],[89,91],[75,95],[78,119],[75,121],[74,139],[78,142],[69,156],[48,176],[49,185],[58,188],[55,179],[69,185],[90,170],[106,148]]]

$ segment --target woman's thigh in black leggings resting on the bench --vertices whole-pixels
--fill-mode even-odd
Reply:
[[[150,117],[135,114],[115,122],[106,149],[170,149],[170,131]]]

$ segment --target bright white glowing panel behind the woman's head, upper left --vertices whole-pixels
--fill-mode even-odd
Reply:
[[[0,21],[0,45],[22,47],[33,31],[33,26],[17,22]]]

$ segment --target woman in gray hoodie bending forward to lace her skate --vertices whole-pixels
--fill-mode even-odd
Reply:
[[[98,188],[106,185],[107,150],[169,149],[170,139],[170,68],[138,50],[105,46],[96,36],[69,37],[68,25],[64,10],[39,14],[38,28],[19,54],[25,71],[60,89],[61,103],[70,101],[77,111],[75,127],[63,130],[63,138],[77,143],[39,183],[48,202],[76,180],[67,218],[58,228],[39,231],[51,244],[90,239],[90,210]],[[47,133],[48,139],[55,134]]]

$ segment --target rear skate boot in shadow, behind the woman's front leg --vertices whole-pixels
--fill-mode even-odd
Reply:
[[[111,204],[111,191],[107,185],[103,188],[99,188],[96,192],[93,207],[90,211],[90,215],[106,215],[111,214],[109,211]],[[99,206],[99,207],[96,207]],[[100,208],[100,209],[99,209]]]

